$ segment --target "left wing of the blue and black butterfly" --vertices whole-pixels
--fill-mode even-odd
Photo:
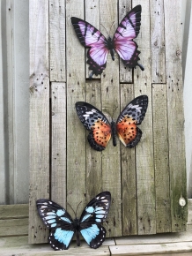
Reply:
[[[48,237],[51,247],[55,251],[68,249],[75,232],[70,215],[51,200],[37,200],[36,205],[41,220],[51,230]]]

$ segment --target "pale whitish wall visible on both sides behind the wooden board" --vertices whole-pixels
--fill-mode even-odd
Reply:
[[[192,198],[192,6],[191,0],[181,4],[188,198]],[[0,4],[0,204],[28,202],[28,9],[26,0]]]

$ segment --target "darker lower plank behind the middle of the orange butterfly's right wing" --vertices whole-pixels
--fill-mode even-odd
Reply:
[[[121,110],[134,99],[134,87],[121,85]],[[137,234],[137,188],[135,148],[122,145],[122,234]]]

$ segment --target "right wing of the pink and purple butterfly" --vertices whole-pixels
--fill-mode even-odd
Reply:
[[[142,70],[144,67],[138,64],[138,57],[140,51],[134,38],[140,30],[141,25],[141,5],[137,5],[122,19],[122,22],[117,27],[114,33],[114,49],[122,58],[122,62],[129,66],[129,68],[139,65]]]

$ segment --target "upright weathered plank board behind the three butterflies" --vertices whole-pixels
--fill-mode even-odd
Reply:
[[[98,192],[112,193],[108,237],[185,230],[187,202],[180,1],[143,1],[139,69],[107,58],[99,79],[89,80],[85,49],[70,17],[114,27],[139,1],[30,1],[29,242],[47,241],[35,200],[51,198],[78,215]],[[174,10],[174,15],[173,15]],[[119,17],[119,19],[118,19]],[[176,35],[176,36],[175,36]],[[147,94],[149,107],[136,148],[111,143],[102,153],[87,144],[75,102],[90,102],[112,116]],[[72,215],[70,208],[67,207]]]

